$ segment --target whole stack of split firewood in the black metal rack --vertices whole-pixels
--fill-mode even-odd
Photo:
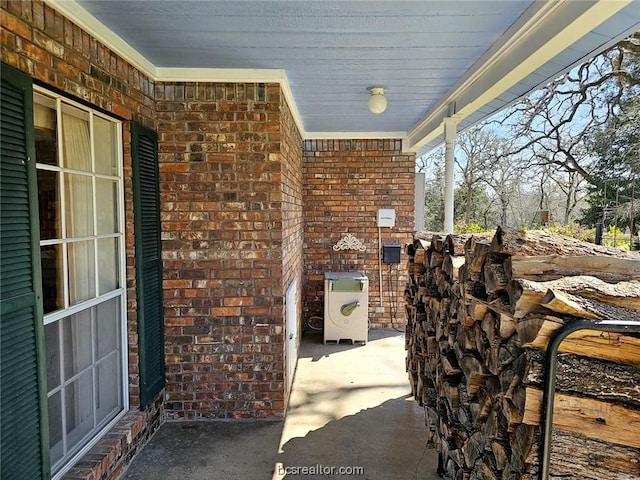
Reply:
[[[502,227],[416,234],[407,254],[407,371],[440,473],[538,478],[547,344],[640,320],[640,255]],[[640,478],[640,336],[568,336],[555,398],[551,478]]]

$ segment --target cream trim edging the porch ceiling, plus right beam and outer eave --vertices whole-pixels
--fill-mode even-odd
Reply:
[[[309,131],[284,69],[159,67],[75,1],[46,1],[154,81],[278,83],[303,138],[401,138],[416,153],[442,142],[445,118],[466,128],[640,29],[636,0],[535,1],[410,130]]]

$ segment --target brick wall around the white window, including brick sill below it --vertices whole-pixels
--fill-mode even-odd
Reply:
[[[130,121],[154,127],[153,81],[40,0],[3,0],[0,7],[2,62],[29,74],[36,84],[123,120],[129,403],[135,408],[139,405],[139,381]],[[84,474],[87,478],[117,476],[161,424],[161,399],[162,394],[145,412],[133,415],[135,418],[131,412],[127,414],[91,455],[79,462],[73,478]]]

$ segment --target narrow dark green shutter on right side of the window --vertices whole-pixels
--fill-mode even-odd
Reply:
[[[143,408],[162,390],[165,382],[157,134],[132,123],[131,150],[140,408]]]

